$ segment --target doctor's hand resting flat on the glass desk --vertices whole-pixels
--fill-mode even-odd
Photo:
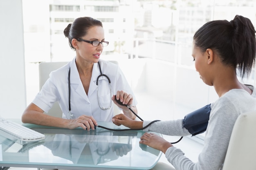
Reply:
[[[94,125],[98,126],[97,121],[92,116],[82,115],[76,119],[70,119],[67,124],[67,127],[69,129],[81,127],[84,130],[89,131],[90,128],[92,128],[92,130],[94,130]]]

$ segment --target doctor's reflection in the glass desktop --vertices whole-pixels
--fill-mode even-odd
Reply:
[[[136,131],[113,132],[104,129],[82,131],[82,134],[47,134],[41,145],[52,154],[74,164],[98,165],[127,155],[132,150],[132,138]],[[23,151],[29,149],[29,144]]]

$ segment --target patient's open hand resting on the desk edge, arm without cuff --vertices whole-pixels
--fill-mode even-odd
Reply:
[[[151,148],[162,151],[164,154],[166,150],[173,145],[166,141],[164,138],[156,135],[155,133],[146,132],[140,137],[139,143],[150,146]]]

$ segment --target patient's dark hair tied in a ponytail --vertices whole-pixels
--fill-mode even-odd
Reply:
[[[252,22],[236,15],[230,22],[215,20],[204,24],[194,35],[195,46],[201,51],[215,50],[226,65],[238,67],[242,78],[255,64],[256,40]]]

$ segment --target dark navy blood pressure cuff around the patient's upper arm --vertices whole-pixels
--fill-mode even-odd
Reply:
[[[195,110],[183,119],[183,127],[189,130],[189,133],[198,135],[207,128],[209,116],[211,112],[211,104],[208,104],[198,110]]]

